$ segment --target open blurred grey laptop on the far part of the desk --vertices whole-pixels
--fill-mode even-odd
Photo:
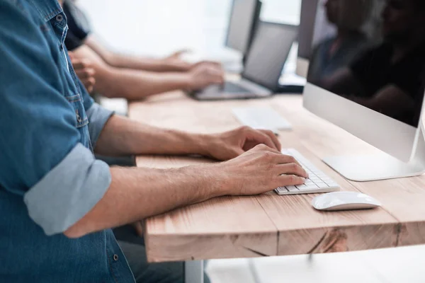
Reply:
[[[189,93],[196,100],[267,98],[276,93],[297,26],[261,21],[246,56],[242,79]]]

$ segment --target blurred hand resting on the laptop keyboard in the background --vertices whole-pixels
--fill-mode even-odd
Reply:
[[[189,88],[197,91],[211,84],[222,84],[225,82],[225,72],[220,64],[215,62],[200,62],[194,64],[189,75]]]

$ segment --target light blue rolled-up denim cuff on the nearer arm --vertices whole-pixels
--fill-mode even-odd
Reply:
[[[31,219],[47,235],[62,233],[75,224],[103,197],[111,183],[109,166],[96,161],[82,144],[26,193]]]

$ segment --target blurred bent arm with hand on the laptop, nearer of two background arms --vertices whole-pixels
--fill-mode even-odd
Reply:
[[[224,81],[222,71],[209,64],[186,73],[152,73],[111,67],[85,45],[74,50],[73,54],[77,59],[91,61],[96,71],[94,91],[108,98],[137,100],[167,91],[199,89]]]

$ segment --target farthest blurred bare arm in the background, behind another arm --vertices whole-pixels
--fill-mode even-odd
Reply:
[[[84,43],[112,67],[158,72],[189,71],[192,67],[192,64],[184,62],[178,56],[155,59],[112,52],[104,47],[94,35],[89,35]]]

